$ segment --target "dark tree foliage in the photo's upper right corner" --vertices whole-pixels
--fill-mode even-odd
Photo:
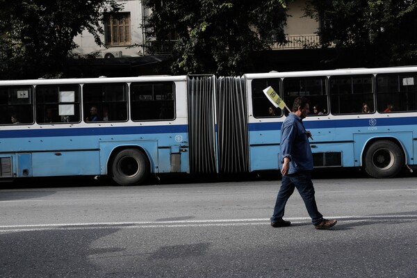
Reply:
[[[309,0],[306,15],[320,20],[322,45],[347,59],[367,66],[417,61],[416,0]]]

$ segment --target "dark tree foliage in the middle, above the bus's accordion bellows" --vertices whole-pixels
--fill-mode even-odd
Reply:
[[[145,34],[148,50],[165,45],[175,60],[173,74],[241,74],[250,71],[251,54],[285,42],[284,0],[143,0],[152,9]],[[173,44],[170,44],[172,42]]]

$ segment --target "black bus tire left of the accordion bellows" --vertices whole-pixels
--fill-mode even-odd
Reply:
[[[111,160],[111,178],[120,186],[139,185],[149,175],[149,162],[138,149],[123,149]]]

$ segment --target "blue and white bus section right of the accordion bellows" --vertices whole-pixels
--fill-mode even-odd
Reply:
[[[311,115],[303,122],[313,135],[314,167],[361,167],[371,177],[389,178],[417,164],[417,67],[271,72],[245,79],[251,170],[278,167],[277,131],[285,115],[268,117],[262,91],[268,86],[286,104],[309,98]]]

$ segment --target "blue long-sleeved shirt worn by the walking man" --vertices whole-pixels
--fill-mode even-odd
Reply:
[[[307,131],[301,117],[289,113],[281,126],[281,144],[279,152],[279,168],[282,169],[284,157],[290,158],[288,174],[313,170],[313,154]]]

